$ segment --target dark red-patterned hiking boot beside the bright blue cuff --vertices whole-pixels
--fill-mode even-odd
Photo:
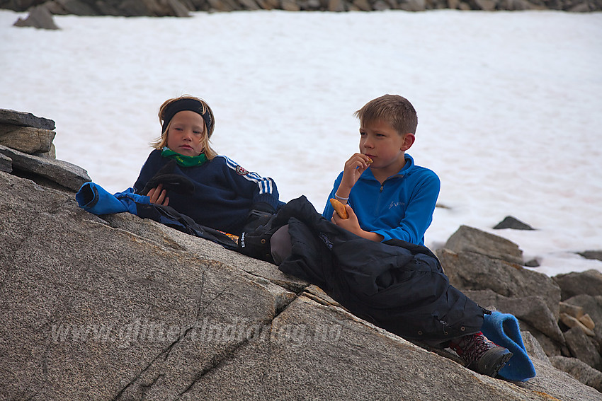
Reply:
[[[489,341],[482,332],[454,339],[450,348],[465,361],[467,368],[491,377],[495,377],[512,356],[508,349]]]

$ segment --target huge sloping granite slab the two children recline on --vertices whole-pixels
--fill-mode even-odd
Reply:
[[[527,382],[479,375],[274,265],[68,190],[0,173],[0,216],[7,399],[599,399],[541,355]]]

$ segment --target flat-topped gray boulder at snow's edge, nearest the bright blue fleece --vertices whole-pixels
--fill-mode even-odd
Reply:
[[[469,226],[460,226],[445,243],[454,252],[475,252],[506,262],[523,264],[523,251],[516,243]]]

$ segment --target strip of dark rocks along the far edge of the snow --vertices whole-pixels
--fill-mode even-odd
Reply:
[[[602,10],[602,0],[0,0],[0,8],[30,11],[16,26],[59,29],[52,15],[190,16],[191,11],[228,12],[280,9],[285,11],[463,11]]]

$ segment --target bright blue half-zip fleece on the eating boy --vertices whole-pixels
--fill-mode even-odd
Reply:
[[[441,181],[432,170],[415,165],[407,153],[405,160],[402,170],[382,185],[370,168],[366,169],[351,189],[348,204],[358,216],[360,227],[385,237],[383,241],[396,238],[424,245],[424,233],[433,221]],[[343,172],[334,181],[329,199],[334,197],[342,179]],[[330,202],[326,202],[322,216],[331,219],[333,212]]]

